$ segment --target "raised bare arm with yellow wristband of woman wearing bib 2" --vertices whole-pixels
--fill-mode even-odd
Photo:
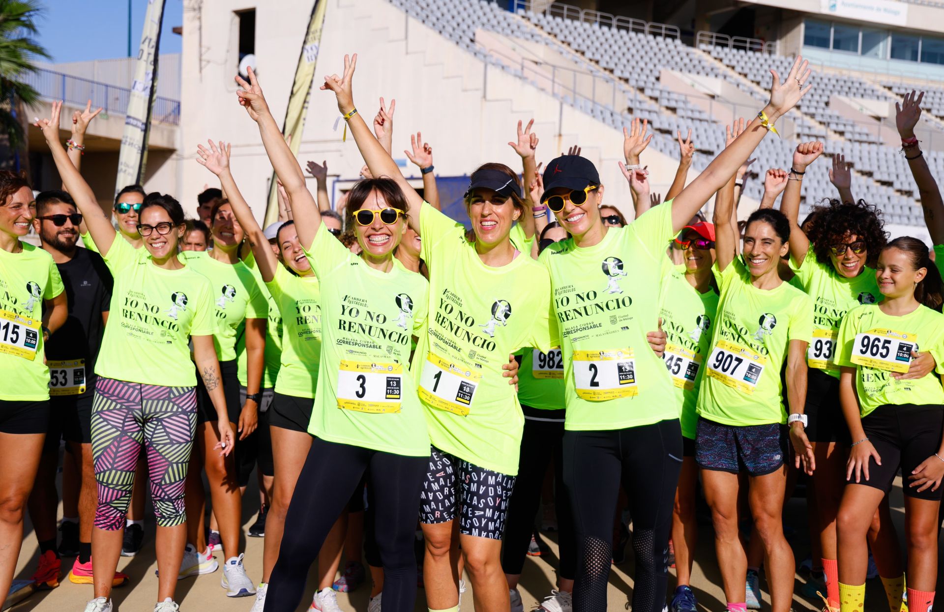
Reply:
[[[773,83],[767,106],[750,122],[732,146],[725,147],[698,178],[695,178],[673,200],[672,226],[675,231],[681,230],[708,198],[737,172],[742,163],[747,161],[753,150],[767,135],[765,123],[773,126],[778,119],[796,106],[804,93],[809,91],[809,85],[802,86],[810,76],[808,64],[809,62],[798,56],[783,82],[776,71],[770,70]],[[767,122],[762,119],[762,113],[767,117]]]

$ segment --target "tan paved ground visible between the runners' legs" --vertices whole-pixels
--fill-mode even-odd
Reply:
[[[256,499],[255,493],[251,494],[252,499]],[[901,521],[903,518],[901,490],[896,488],[892,497],[892,513],[896,522],[898,522],[899,534],[901,536]],[[148,511],[150,509],[148,508]],[[255,519],[253,513],[255,508],[249,509],[244,514],[244,529]],[[807,536],[805,536],[806,505],[803,499],[793,499],[787,508],[787,522],[793,527],[791,543],[794,545],[798,556],[807,553]],[[60,512],[61,516],[61,512]],[[32,570],[36,567],[38,549],[36,538],[32,535],[29,525],[26,526],[27,536],[24,541],[23,551],[20,554],[20,561],[17,568],[18,578],[28,578]],[[526,606],[526,610],[531,609],[532,604],[536,604],[550,592],[555,581],[554,568],[557,567],[557,545],[553,534],[545,535],[548,542],[550,554],[541,557],[529,557],[525,565],[524,575],[521,581],[521,594]],[[245,565],[249,575],[253,580],[258,580],[261,574],[261,553],[262,539],[255,537],[246,537],[245,540]],[[217,555],[219,556],[219,555]],[[628,598],[632,597],[632,549],[627,555],[626,563],[615,566],[610,575],[609,604],[610,610],[624,610]],[[698,562],[695,565],[693,587],[695,588],[700,609],[711,610],[712,612],[721,612],[724,610],[724,595],[721,590],[721,579],[716,565],[714,545],[711,537],[710,528],[701,527],[698,553],[696,555]],[[218,559],[221,563],[223,559]],[[800,563],[798,558],[797,562]],[[71,563],[71,560],[68,561]],[[71,567],[71,566],[70,566]],[[154,560],[154,520],[148,519],[145,525],[145,544],[141,553],[133,558],[122,558],[119,570],[125,571],[131,576],[131,582],[126,587],[115,589],[113,599],[116,604],[116,610],[121,612],[151,612],[157,597],[157,579],[154,570],[157,565]],[[68,571],[68,567],[64,568]],[[220,575],[222,570],[215,573],[195,578],[187,578],[180,581],[177,587],[177,602],[185,612],[194,610],[224,609],[227,612],[247,612],[252,605],[252,598],[229,599],[226,597],[223,589],[220,587]],[[674,587],[673,576],[669,579],[670,587]],[[64,579],[64,575],[63,575]],[[803,585],[803,578],[798,575],[794,605],[795,610],[819,609],[814,602],[804,599],[800,595]],[[766,588],[763,584],[762,587]],[[307,610],[308,603],[311,602],[314,588],[314,574],[309,575],[308,589],[305,594],[305,604],[299,606],[298,610]],[[369,587],[364,585],[354,593],[349,595],[339,594],[338,602],[346,612],[358,610],[364,612],[367,609],[367,596]],[[40,592],[21,604],[11,608],[13,612],[26,612],[28,610],[37,611],[56,611],[56,612],[81,612],[85,603],[92,597],[92,587],[86,585],[73,585],[65,580],[59,588],[48,592]],[[868,599],[866,602],[866,612],[885,612],[887,604],[885,603],[885,594],[878,579],[869,581]],[[471,590],[465,595],[464,601],[472,609]],[[216,608],[215,606],[224,606]],[[767,593],[764,595],[764,608],[769,610],[769,598]],[[416,610],[426,611],[426,602],[423,591],[420,590],[416,599]]]

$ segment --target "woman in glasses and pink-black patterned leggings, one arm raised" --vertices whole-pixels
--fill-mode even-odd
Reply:
[[[187,539],[184,480],[196,427],[196,373],[210,392],[219,420],[222,454],[233,449],[220,368],[213,348],[211,281],[177,259],[184,215],[169,195],[151,194],[138,229],[144,247],[117,237],[95,195],[59,144],[59,110],[42,120],[59,176],[114,277],[111,324],[95,365],[92,447],[99,503],[92,535],[94,599],[86,612],[110,612],[112,580],[122,549],[122,528],[133,475],[148,447],[151,497],[158,519],[158,604],[171,612]],[[119,316],[120,314],[120,316]],[[194,344],[194,362],[188,342]]]

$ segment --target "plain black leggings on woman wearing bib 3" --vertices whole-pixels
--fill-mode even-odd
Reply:
[[[429,463],[429,457],[407,457],[314,438],[285,517],[285,534],[292,536],[284,537],[279,547],[265,611],[298,607],[312,562],[366,471],[372,476],[373,499],[377,501],[374,531],[383,562],[384,610],[412,612],[416,599],[413,535]]]

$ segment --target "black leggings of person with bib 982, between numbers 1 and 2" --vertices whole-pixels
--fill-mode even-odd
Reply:
[[[541,501],[541,487],[548,469],[550,454],[554,459],[554,501],[557,510],[560,568],[558,574],[574,579],[577,563],[574,540],[574,519],[564,486],[564,411],[538,410],[521,406],[525,429],[521,436],[518,476],[514,481],[512,499],[505,519],[505,541],[501,550],[501,569],[507,574],[520,574],[525,555],[534,533],[534,515]],[[536,420],[538,418],[545,420]],[[560,418],[560,420],[553,420]]]

